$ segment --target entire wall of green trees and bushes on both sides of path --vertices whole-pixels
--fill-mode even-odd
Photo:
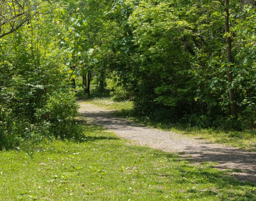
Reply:
[[[94,79],[151,118],[256,125],[254,1],[10,0],[0,13],[0,147],[68,134],[80,76],[84,94]]]

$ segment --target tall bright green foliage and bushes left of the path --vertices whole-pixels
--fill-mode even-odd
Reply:
[[[60,46],[62,26],[54,20],[59,12],[50,13],[44,6],[44,1],[1,2],[1,31],[13,32],[0,44],[0,149],[63,137],[78,108],[64,64],[67,54]]]

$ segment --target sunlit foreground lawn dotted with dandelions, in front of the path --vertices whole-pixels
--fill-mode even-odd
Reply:
[[[256,200],[256,184],[211,163],[130,142],[96,126],[80,138],[0,152],[0,200]]]

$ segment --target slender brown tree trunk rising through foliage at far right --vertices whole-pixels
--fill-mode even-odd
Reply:
[[[227,59],[228,62],[232,63],[232,53],[231,53],[231,37],[229,36],[229,0],[225,0],[225,11],[226,11],[226,16],[225,16],[225,33],[228,34],[227,35]],[[231,85],[232,81],[233,81],[233,76],[230,73],[230,68],[231,66],[228,67],[227,70],[227,75],[228,75],[228,82]],[[236,104],[234,103],[234,89],[231,88],[231,86],[229,85],[229,100],[231,101],[231,115],[236,115]]]

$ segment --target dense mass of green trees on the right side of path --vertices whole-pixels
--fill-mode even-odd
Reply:
[[[203,127],[255,127],[254,6],[251,1],[117,1],[111,14],[123,35],[103,59],[142,115]]]

